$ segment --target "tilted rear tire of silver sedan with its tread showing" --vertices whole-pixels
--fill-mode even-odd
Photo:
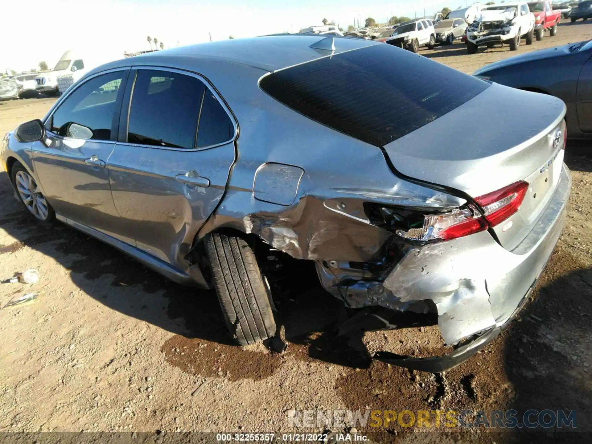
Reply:
[[[221,233],[208,234],[205,248],[230,336],[240,345],[274,336],[270,296],[253,249],[244,239]]]

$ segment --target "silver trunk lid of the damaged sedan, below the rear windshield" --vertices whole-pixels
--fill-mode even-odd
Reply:
[[[558,184],[563,151],[554,136],[564,115],[565,104],[553,96],[494,83],[384,149],[398,172],[472,198],[528,182],[519,211],[494,227],[511,250],[532,229]]]

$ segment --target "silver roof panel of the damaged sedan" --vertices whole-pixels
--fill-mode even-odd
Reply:
[[[314,49],[311,45],[324,39],[333,38],[335,50]],[[323,36],[319,34],[291,34],[235,38],[213,41],[162,51],[153,51],[140,56],[128,57],[107,63],[97,69],[139,66],[139,65],[192,65],[200,62],[239,63],[259,69],[275,71],[298,63],[309,62],[320,57],[370,46],[372,41],[361,38]]]

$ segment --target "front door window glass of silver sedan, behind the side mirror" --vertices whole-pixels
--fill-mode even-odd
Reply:
[[[110,140],[124,74],[124,71],[104,74],[76,88],[53,113],[50,130],[62,137]]]

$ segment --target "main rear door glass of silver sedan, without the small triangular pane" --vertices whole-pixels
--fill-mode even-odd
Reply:
[[[134,83],[128,143],[194,148],[205,86],[184,74],[139,70]]]

